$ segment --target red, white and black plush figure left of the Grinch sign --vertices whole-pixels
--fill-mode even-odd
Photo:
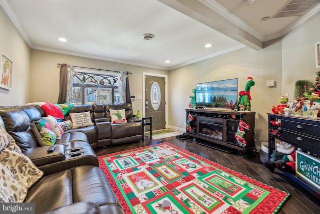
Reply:
[[[280,141],[276,144],[270,161],[263,162],[263,165],[270,171],[273,171],[276,166],[280,166],[283,171],[292,172],[295,169],[295,150],[295,146]]]

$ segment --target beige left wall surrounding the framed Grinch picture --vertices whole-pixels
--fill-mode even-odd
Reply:
[[[0,26],[0,54],[13,62],[12,90],[0,88],[0,105],[22,105],[29,95],[30,48],[1,7]]]

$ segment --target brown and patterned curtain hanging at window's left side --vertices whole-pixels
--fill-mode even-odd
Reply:
[[[60,65],[59,96],[57,103],[71,103],[73,65]]]

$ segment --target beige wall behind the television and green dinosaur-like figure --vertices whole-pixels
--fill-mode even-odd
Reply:
[[[238,78],[240,91],[244,90],[248,76],[255,82],[250,90],[251,110],[256,112],[255,144],[260,145],[267,140],[267,113],[271,112],[271,105],[277,103],[281,95],[280,41],[260,51],[243,48],[170,71],[169,124],[185,127],[184,110],[196,83]],[[266,80],[274,80],[276,86],[266,87]]]

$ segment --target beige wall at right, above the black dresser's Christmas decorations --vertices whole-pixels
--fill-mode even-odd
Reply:
[[[293,99],[297,80],[315,81],[315,43],[320,42],[320,12],[282,38],[282,93]]]

